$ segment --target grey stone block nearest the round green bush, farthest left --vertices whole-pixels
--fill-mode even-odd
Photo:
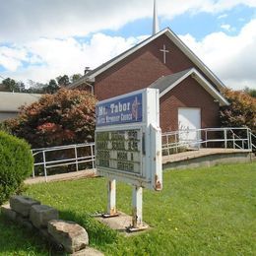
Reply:
[[[9,200],[11,209],[24,217],[29,217],[33,205],[40,202],[26,196],[12,196]]]

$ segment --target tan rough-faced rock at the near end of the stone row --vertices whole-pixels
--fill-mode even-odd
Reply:
[[[86,248],[89,237],[86,229],[73,222],[53,220],[48,222],[48,232],[63,245],[68,253],[74,253]]]

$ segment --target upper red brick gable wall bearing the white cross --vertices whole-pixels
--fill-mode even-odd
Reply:
[[[166,53],[166,64],[160,49]],[[96,77],[96,97],[101,100],[150,86],[161,76],[193,67],[191,61],[166,37],[161,35],[148,45]]]

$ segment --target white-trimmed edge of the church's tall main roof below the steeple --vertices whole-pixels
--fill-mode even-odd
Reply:
[[[69,86],[69,88],[76,88],[85,82],[94,82],[96,76],[104,72],[105,70],[109,69],[119,61],[123,60],[124,58],[128,57],[132,53],[136,52],[143,46],[147,45],[151,41],[158,38],[160,35],[165,34],[168,38],[195,64],[195,66],[201,70],[219,89],[224,87],[222,81],[196,56],[196,54],[191,51],[185,43],[169,28],[166,28],[149,38],[145,39],[144,41],[138,43],[137,45],[133,46],[132,48],[124,51],[123,53],[119,54],[118,56],[112,58],[111,60],[103,63],[102,65],[98,66],[96,69],[88,72],[85,76],[81,79],[77,80],[73,84]]]

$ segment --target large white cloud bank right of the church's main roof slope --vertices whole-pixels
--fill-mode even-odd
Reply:
[[[190,34],[181,39],[224,81],[237,90],[245,86],[256,89],[256,20],[248,23],[236,36],[214,32],[202,41]]]

